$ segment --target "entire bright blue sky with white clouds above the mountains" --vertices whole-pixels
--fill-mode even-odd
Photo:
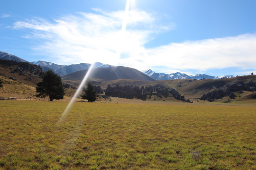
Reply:
[[[256,72],[256,0],[1,0],[0,51],[212,76]],[[122,26],[125,25],[125,31]]]

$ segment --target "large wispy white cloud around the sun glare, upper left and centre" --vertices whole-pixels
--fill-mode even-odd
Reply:
[[[144,11],[130,11],[128,29],[122,34],[124,11],[107,13],[94,10],[98,13],[81,12],[76,16],[55,19],[54,22],[40,18],[18,21],[14,28],[32,30],[23,37],[41,40],[40,43],[44,41],[34,49],[44,51],[58,63],[101,61],[115,65],[119,63],[120,52],[137,54],[150,34],[165,31],[168,27],[165,26],[164,30],[154,26],[155,18]]]

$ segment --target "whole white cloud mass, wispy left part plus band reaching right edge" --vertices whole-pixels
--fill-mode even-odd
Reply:
[[[34,47],[58,64],[100,61],[143,70],[173,70],[236,67],[252,69],[256,65],[256,34],[243,34],[200,41],[169,43],[146,49],[146,42],[159,33],[175,29],[174,23],[161,25],[156,14],[129,11],[126,33],[121,34],[124,11],[77,13],[54,21],[19,21],[14,28],[28,29],[25,38],[40,40]],[[121,55],[119,56],[119,52]],[[125,56],[125,57],[124,57]]]

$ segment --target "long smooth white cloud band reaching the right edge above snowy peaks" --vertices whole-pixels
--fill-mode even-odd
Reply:
[[[149,67],[164,64],[179,70],[250,69],[256,65],[256,34],[170,43],[147,49],[146,54]]]

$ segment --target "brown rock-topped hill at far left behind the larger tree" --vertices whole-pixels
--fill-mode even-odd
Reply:
[[[35,64],[0,59],[0,98],[17,97],[35,99],[37,83],[42,81],[44,71]],[[75,90],[66,85],[64,99],[70,98]],[[46,99],[47,100],[47,99]]]

